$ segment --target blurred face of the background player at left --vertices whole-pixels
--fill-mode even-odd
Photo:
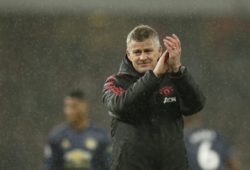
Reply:
[[[86,101],[66,97],[64,100],[64,113],[70,123],[85,119],[88,112],[88,104]]]

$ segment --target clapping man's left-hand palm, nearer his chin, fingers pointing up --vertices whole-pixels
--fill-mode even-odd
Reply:
[[[156,75],[156,77],[160,77],[161,75],[165,74],[169,70],[169,66],[166,63],[166,57],[168,57],[167,54],[168,51],[166,50],[162,56],[159,58],[159,61],[157,62],[153,72]]]

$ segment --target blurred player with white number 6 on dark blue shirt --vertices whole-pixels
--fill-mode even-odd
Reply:
[[[203,125],[200,114],[185,118],[184,139],[190,170],[238,170],[233,147],[228,140]]]

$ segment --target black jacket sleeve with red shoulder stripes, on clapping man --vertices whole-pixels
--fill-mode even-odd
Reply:
[[[131,111],[133,105],[152,93],[158,82],[153,71],[148,71],[125,90],[117,83],[116,77],[111,76],[104,85],[103,103],[114,116],[126,116],[124,114]]]

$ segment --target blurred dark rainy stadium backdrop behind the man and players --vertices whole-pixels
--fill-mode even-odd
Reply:
[[[41,170],[63,97],[86,91],[93,124],[109,129],[102,86],[138,24],[182,40],[183,63],[207,96],[205,123],[250,167],[249,0],[0,0],[0,169]]]

